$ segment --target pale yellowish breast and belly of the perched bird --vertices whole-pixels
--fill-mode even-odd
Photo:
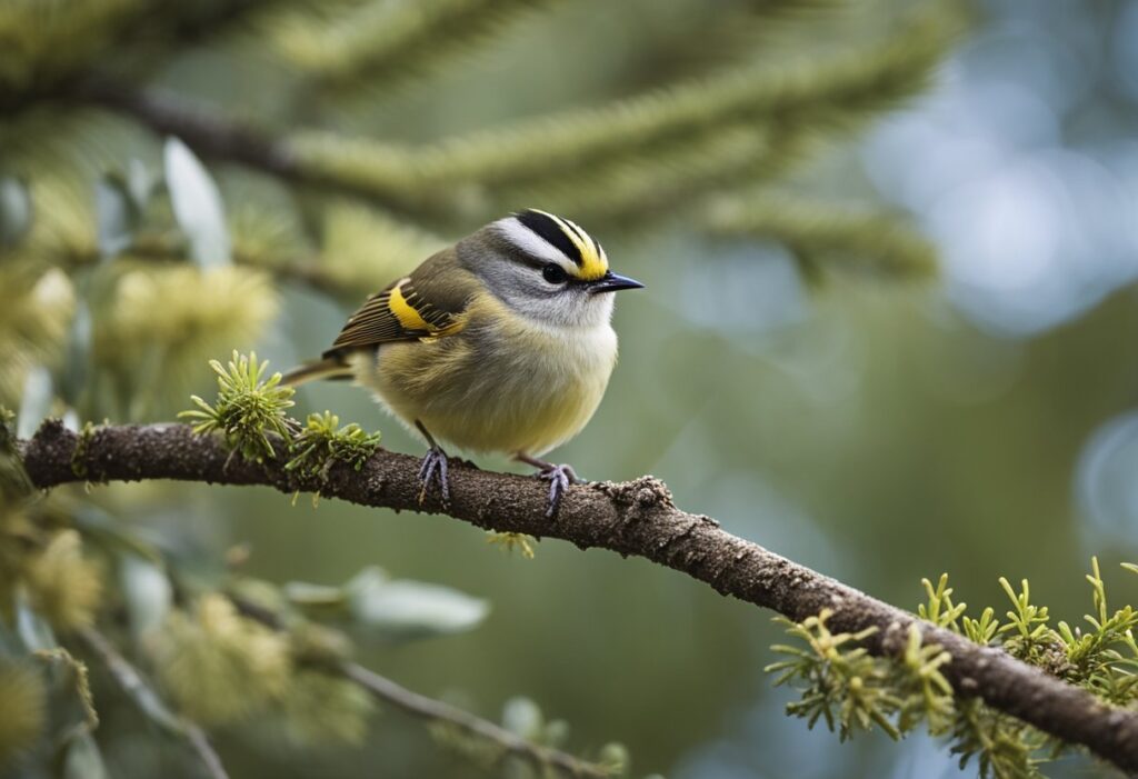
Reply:
[[[419,420],[462,449],[541,455],[593,416],[616,363],[616,333],[513,332],[510,348],[500,339],[385,345],[361,379],[403,422]]]

